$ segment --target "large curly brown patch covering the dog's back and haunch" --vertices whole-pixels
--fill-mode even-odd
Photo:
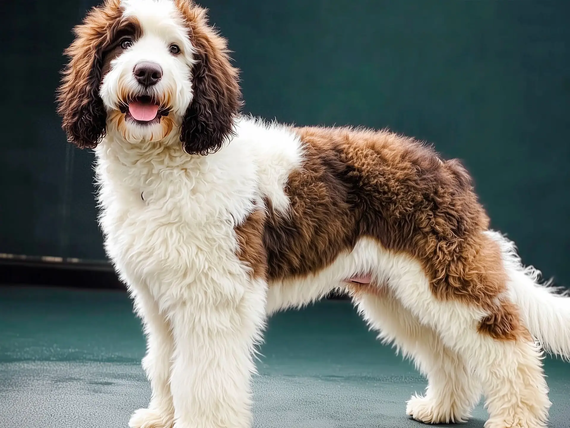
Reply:
[[[317,272],[360,237],[419,260],[439,300],[490,315],[494,338],[524,336],[515,305],[502,301],[506,272],[488,217],[457,160],[442,161],[413,139],[385,131],[296,129],[306,162],[290,175],[290,211],[268,210],[263,244],[268,277]]]

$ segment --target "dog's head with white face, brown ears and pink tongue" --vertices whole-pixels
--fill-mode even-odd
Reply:
[[[160,141],[176,131],[186,152],[206,155],[233,132],[237,70],[191,0],[106,0],[75,36],[58,92],[71,143],[93,148],[107,132]]]

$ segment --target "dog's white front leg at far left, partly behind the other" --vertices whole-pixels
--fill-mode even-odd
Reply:
[[[150,381],[152,395],[148,409],[135,411],[129,421],[130,428],[171,428],[174,423],[174,406],[170,394],[170,359],[173,338],[170,325],[158,310],[158,305],[146,286],[132,290],[135,310],[143,319],[146,335],[146,355],[143,369]]]

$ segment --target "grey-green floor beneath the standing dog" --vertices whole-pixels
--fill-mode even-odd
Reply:
[[[0,288],[0,427],[126,427],[148,403],[140,322],[125,293]],[[421,427],[405,401],[425,380],[348,302],[271,318],[254,378],[254,426]],[[547,360],[551,423],[570,427],[570,364]],[[466,428],[482,428],[479,405]]]

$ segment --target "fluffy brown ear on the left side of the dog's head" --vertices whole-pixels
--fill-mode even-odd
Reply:
[[[120,0],[94,7],[75,27],[75,40],[65,51],[70,62],[58,88],[58,113],[68,141],[80,148],[97,146],[105,135],[107,114],[99,96],[103,50],[120,18]]]

